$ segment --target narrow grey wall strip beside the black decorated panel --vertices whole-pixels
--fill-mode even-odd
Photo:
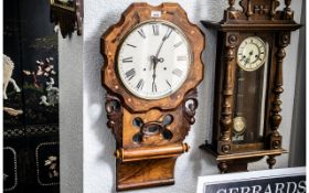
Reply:
[[[83,192],[83,37],[58,33],[61,192]]]

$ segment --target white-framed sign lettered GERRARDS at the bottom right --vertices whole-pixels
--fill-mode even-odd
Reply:
[[[198,193],[305,193],[306,168],[199,176]]]

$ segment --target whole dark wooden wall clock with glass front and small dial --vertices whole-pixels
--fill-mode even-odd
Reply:
[[[283,61],[294,21],[291,0],[228,0],[223,21],[202,21],[217,31],[213,139],[201,146],[216,157],[221,172],[246,171],[268,156],[269,168],[281,148],[279,126]],[[290,64],[291,65],[291,64]]]

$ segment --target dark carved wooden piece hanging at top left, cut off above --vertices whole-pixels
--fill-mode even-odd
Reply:
[[[74,0],[72,6],[66,6],[58,0],[50,0],[51,22],[60,25],[63,37],[71,36],[76,30],[77,35],[83,33],[84,8],[83,0]]]

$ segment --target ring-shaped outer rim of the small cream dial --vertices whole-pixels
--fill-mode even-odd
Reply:
[[[241,60],[241,58],[239,58],[239,55],[241,55],[239,47],[242,47],[242,45],[243,45],[247,40],[249,40],[249,39],[255,39],[256,41],[258,41],[258,42],[263,45],[263,47],[264,47],[264,50],[265,50],[265,55],[264,55],[263,60],[262,60],[255,67],[253,67],[253,68],[245,67],[245,66],[242,64],[242,62],[239,61],[239,60]],[[254,71],[258,69],[259,67],[262,67],[262,66],[265,64],[266,58],[267,58],[267,54],[268,54],[267,52],[268,52],[268,51],[267,51],[267,44],[266,44],[260,37],[258,37],[258,36],[248,36],[248,37],[244,39],[244,40],[242,41],[242,43],[239,44],[239,46],[238,46],[238,50],[237,50],[237,64],[238,64],[238,66],[239,66],[242,69],[244,69],[244,71],[246,71],[246,72],[254,72]]]

